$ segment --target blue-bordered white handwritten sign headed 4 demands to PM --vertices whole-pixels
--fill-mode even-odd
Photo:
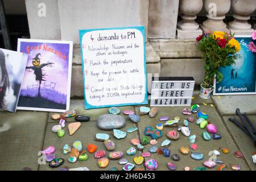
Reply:
[[[80,30],[85,109],[147,104],[144,27]]]

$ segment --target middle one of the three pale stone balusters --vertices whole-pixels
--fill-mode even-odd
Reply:
[[[230,0],[205,0],[204,8],[207,11],[207,20],[203,22],[202,29],[206,31],[226,31],[226,23],[223,22],[225,15],[229,12]]]

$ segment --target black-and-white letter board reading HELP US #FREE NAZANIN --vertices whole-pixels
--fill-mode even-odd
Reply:
[[[152,77],[150,106],[191,105],[193,77]]]

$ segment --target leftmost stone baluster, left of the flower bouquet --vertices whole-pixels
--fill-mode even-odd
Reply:
[[[180,0],[179,10],[182,13],[177,23],[178,39],[195,39],[202,34],[199,24],[195,22],[196,15],[203,8],[203,0]]]

